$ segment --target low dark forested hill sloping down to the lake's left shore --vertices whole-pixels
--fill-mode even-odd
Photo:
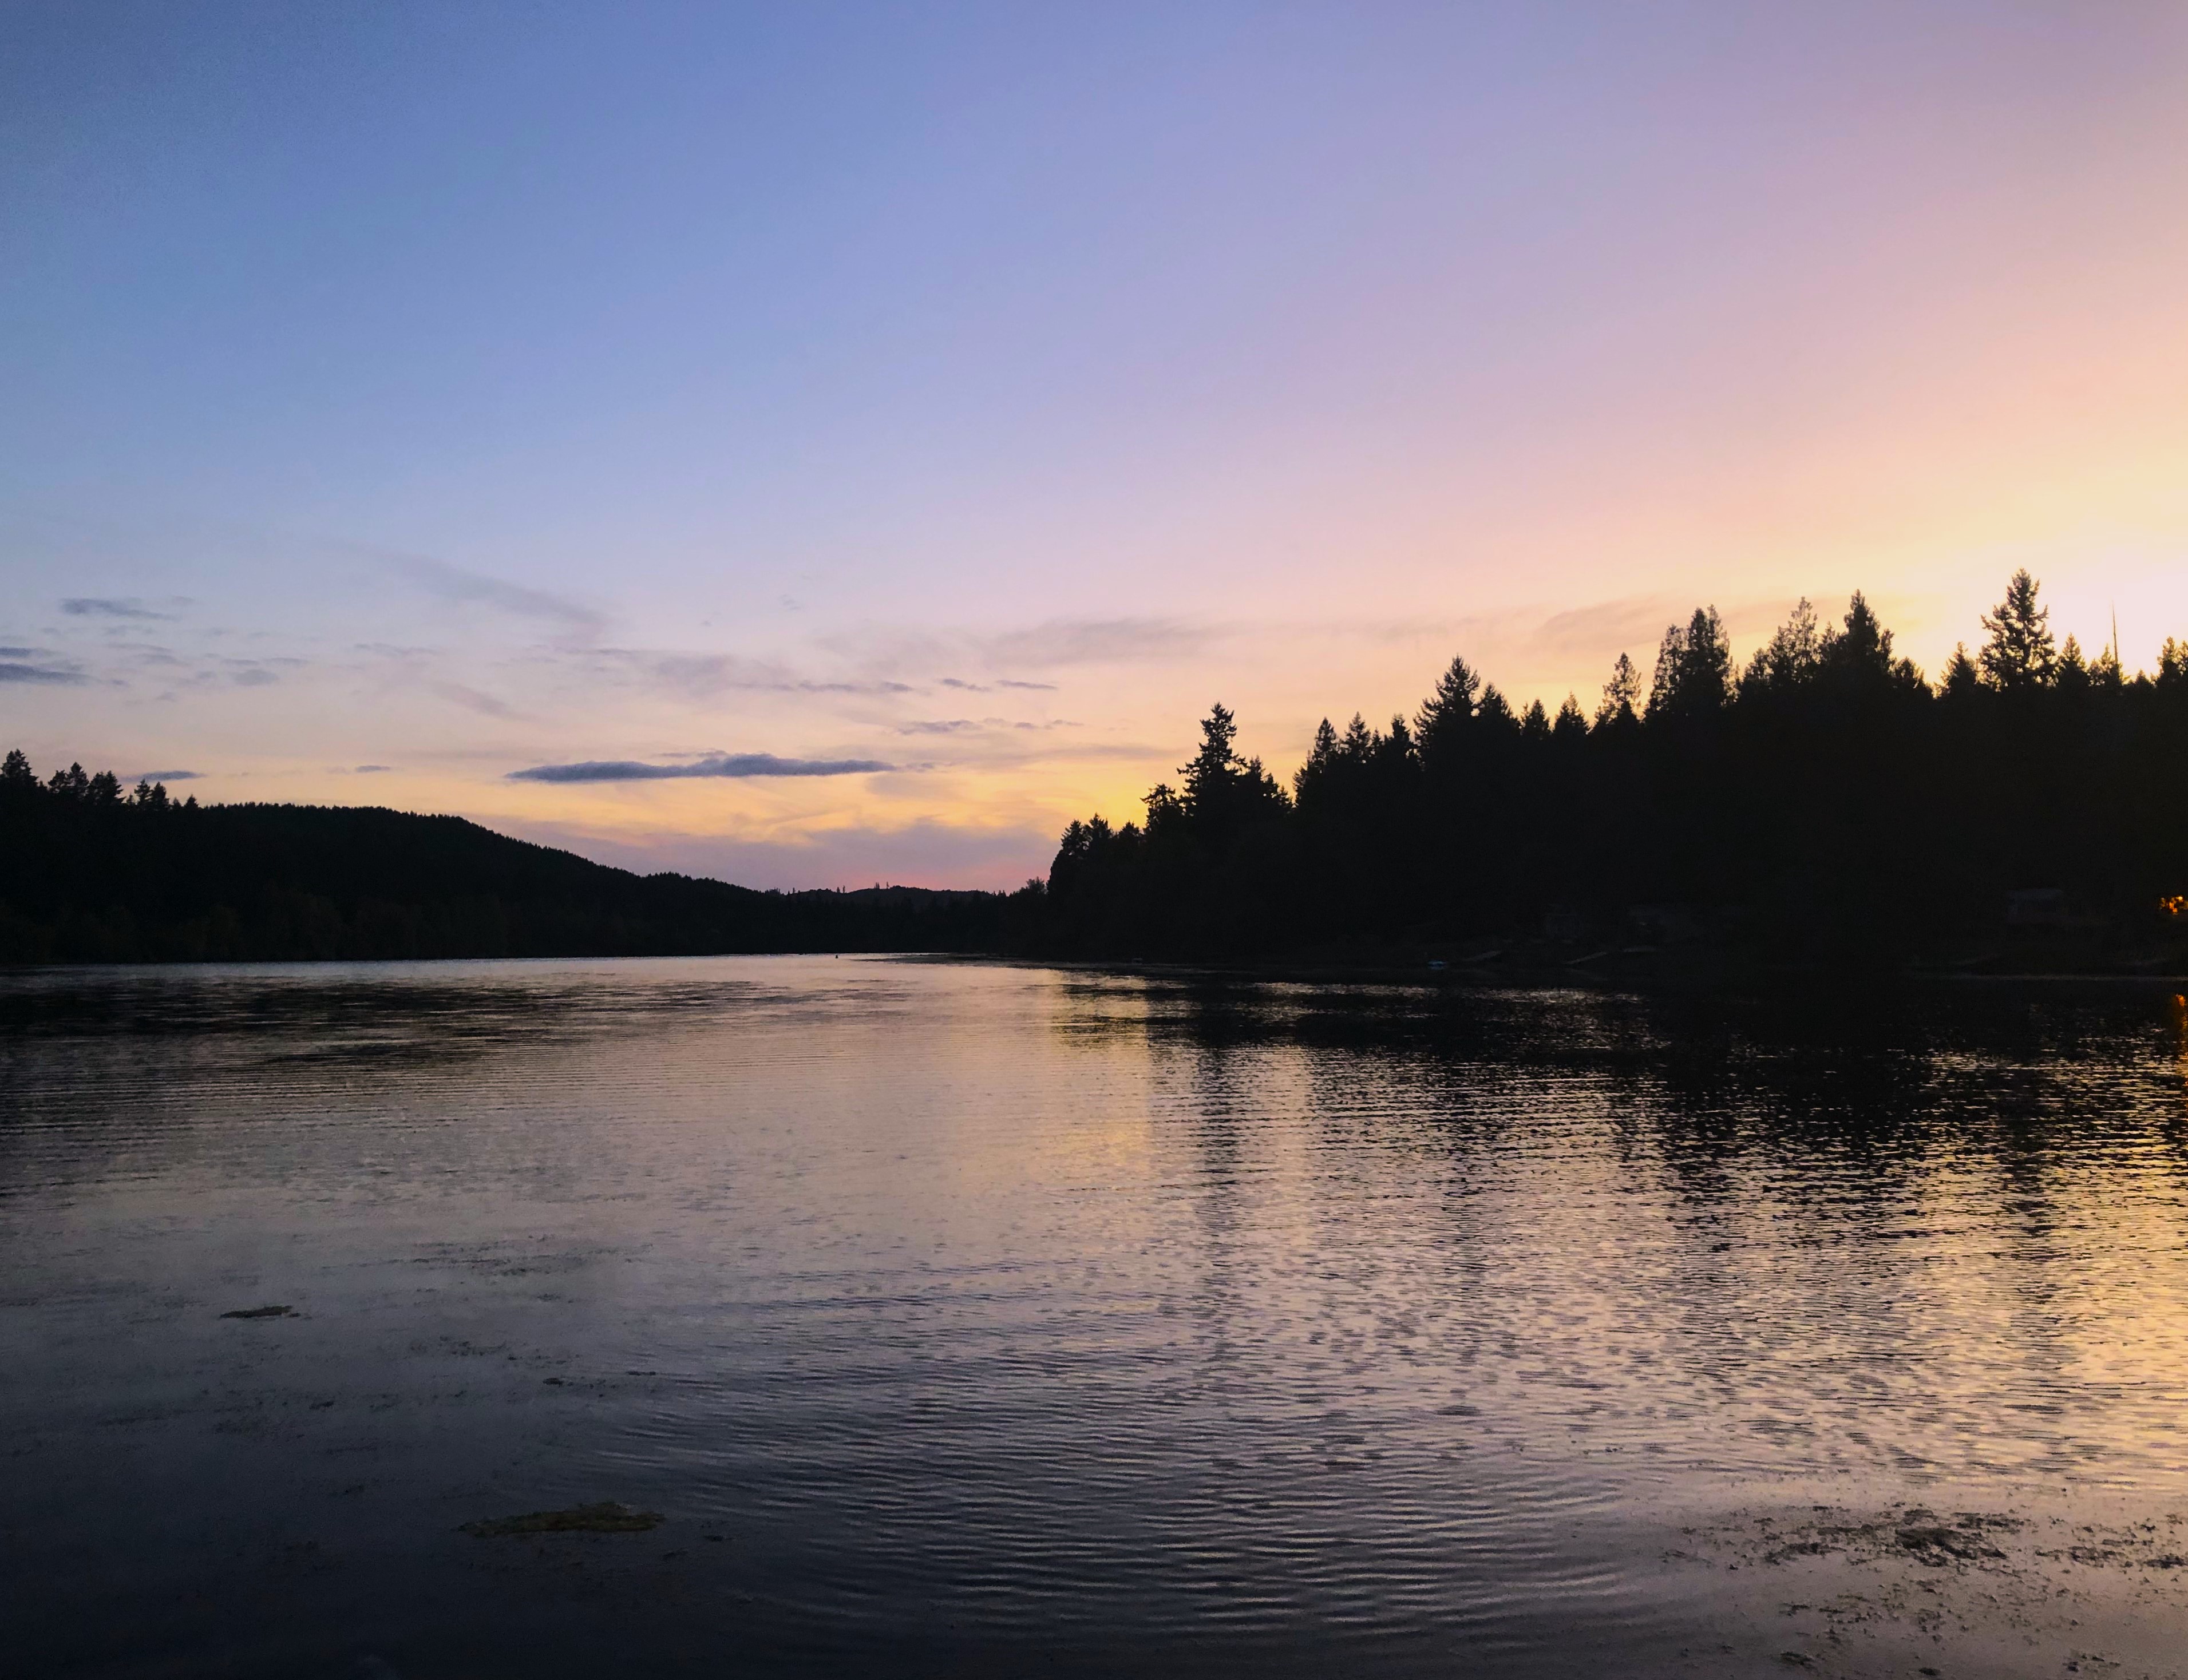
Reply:
[[[457,816],[175,803],[0,768],[0,962],[961,952],[1002,897],[632,875]]]

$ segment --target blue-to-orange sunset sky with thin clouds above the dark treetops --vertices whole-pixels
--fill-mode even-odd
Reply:
[[[2177,0],[22,4],[0,149],[42,772],[1011,886],[1219,698],[2188,637]]]

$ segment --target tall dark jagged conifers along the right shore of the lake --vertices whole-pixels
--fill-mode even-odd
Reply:
[[[2055,641],[2013,575],[1930,682],[1855,593],[1803,599],[1746,665],[1715,608],[1656,665],[1619,654],[1593,713],[1516,711],[1453,658],[1411,718],[1315,731],[1284,785],[1217,704],[1142,820],[1092,816],[1011,938],[1050,956],[1269,956],[1630,936],[1656,908],[1788,958],[1875,958],[1993,930],[2006,895],[2144,925],[2188,892],[2188,643],[2155,674]]]

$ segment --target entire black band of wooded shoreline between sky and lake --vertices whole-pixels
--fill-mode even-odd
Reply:
[[[1453,658],[1411,718],[1324,720],[1289,785],[1225,707],[1142,820],[1072,822],[1022,890],[759,892],[455,816],[175,803],[0,766],[0,960],[982,952],[1413,962],[1527,945],[1785,962],[2188,962],[2188,643],[2052,639],[2015,573],[1936,682],[1862,595],[1742,667],[1713,608],[1593,713]]]

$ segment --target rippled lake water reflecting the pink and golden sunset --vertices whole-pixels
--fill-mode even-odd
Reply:
[[[1783,1606],[1809,1553],[1877,1606],[2026,1588],[2030,1671],[2188,1649],[2188,1568],[2039,1544],[2188,1512],[2162,991],[718,958],[57,971],[0,978],[0,1024],[15,1671],[1912,1673],[2004,1638],[1825,1628]],[[258,1306],[293,1312],[221,1317]],[[665,1520],[462,1533],[589,1501]],[[1882,1560],[1742,1551],[1820,1505],[1995,1514],[2026,1568],[1904,1516]]]

